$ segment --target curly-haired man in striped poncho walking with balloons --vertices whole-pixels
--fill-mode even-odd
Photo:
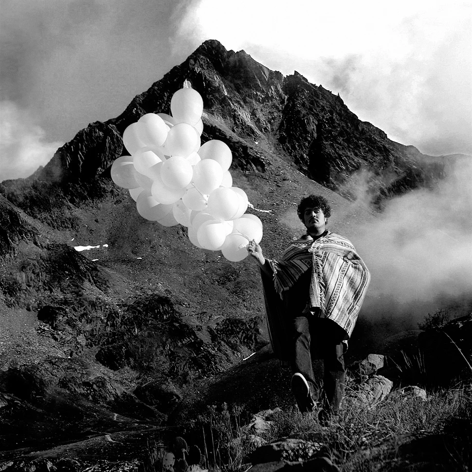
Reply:
[[[307,234],[278,261],[255,241],[248,252],[259,263],[275,355],[289,361],[291,390],[302,413],[321,400],[320,421],[336,414],[345,387],[344,352],[370,281],[370,273],[344,236],[326,229],[331,210],[319,195],[301,200],[297,213]],[[312,361],[322,359],[323,383]]]

